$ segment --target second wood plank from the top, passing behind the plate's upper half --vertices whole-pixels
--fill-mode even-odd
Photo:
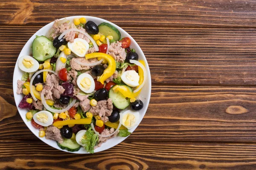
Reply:
[[[0,27],[0,82],[41,26]],[[145,53],[152,84],[255,85],[256,29],[124,27]],[[156,34],[157,32],[157,34]]]

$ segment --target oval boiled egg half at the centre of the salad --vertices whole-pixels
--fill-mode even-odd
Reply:
[[[84,93],[91,93],[95,89],[95,82],[90,74],[80,74],[76,80],[78,87],[84,91]]]

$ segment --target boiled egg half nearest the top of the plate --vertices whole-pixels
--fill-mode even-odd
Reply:
[[[76,38],[74,42],[68,42],[67,46],[78,57],[84,57],[89,49],[88,42],[81,38]]]

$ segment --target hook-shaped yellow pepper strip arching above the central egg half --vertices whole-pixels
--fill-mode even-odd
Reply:
[[[85,55],[85,59],[102,57],[108,61],[108,67],[104,70],[103,74],[99,77],[99,82],[104,85],[106,79],[111,77],[116,71],[116,62],[112,56],[105,53],[90,53]]]

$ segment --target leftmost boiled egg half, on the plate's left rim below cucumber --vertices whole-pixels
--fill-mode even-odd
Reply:
[[[33,57],[24,55],[19,58],[18,66],[20,70],[25,71],[27,73],[32,73],[38,70],[39,62]]]

